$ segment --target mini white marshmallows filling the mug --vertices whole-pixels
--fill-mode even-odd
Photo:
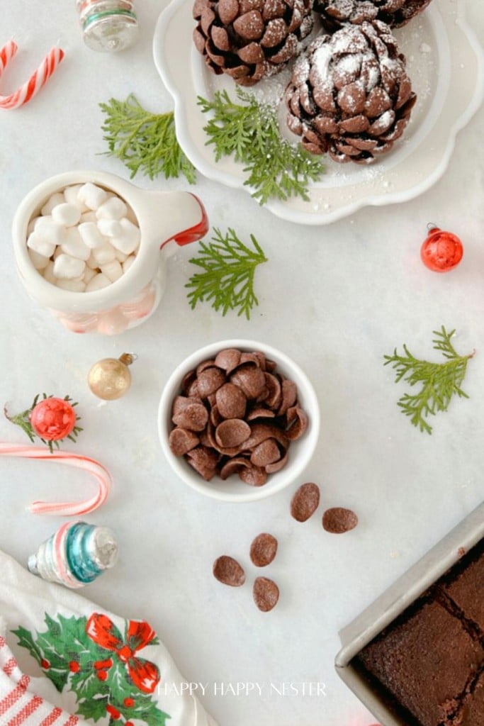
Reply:
[[[30,260],[47,282],[91,293],[116,282],[136,258],[140,232],[126,202],[96,184],[55,192],[30,220]]]

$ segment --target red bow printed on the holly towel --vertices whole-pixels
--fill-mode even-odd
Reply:
[[[94,643],[112,651],[122,663],[126,664],[136,688],[144,693],[153,693],[160,682],[160,671],[154,663],[135,656],[137,650],[149,645],[156,637],[155,631],[147,622],[128,621],[123,641],[118,628],[107,615],[92,613],[86,624],[86,633]]]

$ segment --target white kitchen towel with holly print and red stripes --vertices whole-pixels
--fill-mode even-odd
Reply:
[[[0,726],[217,726],[146,621],[0,551]]]

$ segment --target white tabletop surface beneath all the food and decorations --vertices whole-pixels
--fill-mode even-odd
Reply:
[[[70,394],[84,428],[73,448],[112,473],[112,497],[89,521],[115,529],[120,561],[85,594],[120,615],[148,619],[186,680],[207,684],[201,700],[221,726],[372,724],[334,672],[337,632],[483,499],[484,108],[459,133],[448,169],[432,189],[327,227],[276,219],[245,192],[199,176],[192,191],[211,224],[234,227],[242,239],[255,234],[269,258],[257,272],[260,305],[253,319],[223,318],[208,305],[189,309],[184,284],[194,272],[192,246],[169,262],[167,293],[144,325],[115,338],[74,335],[38,309],[20,284],[12,216],[25,193],[52,174],[94,168],[128,177],[120,162],[102,156],[99,102],[134,92],[153,111],[172,107],[151,49],[165,3],[139,2],[141,38],[118,55],[83,46],[70,1],[4,5],[0,43],[15,38],[20,52],[1,78],[2,91],[22,83],[57,41],[65,60],[30,104],[0,110],[0,402],[20,410],[39,391]],[[483,40],[482,0],[466,5]],[[135,182],[186,188],[183,179]],[[462,237],[464,260],[451,274],[433,274],[419,260],[429,221]],[[459,351],[477,352],[464,383],[469,400],[452,401],[427,436],[398,412],[404,387],[395,386],[382,361],[404,342],[418,355],[432,355],[432,330],[442,324],[457,329]],[[311,377],[321,405],[319,448],[303,476],[285,492],[247,505],[192,492],[168,470],[157,441],[157,404],[173,367],[194,348],[231,337],[266,340],[286,351]],[[139,355],[133,386],[125,398],[103,404],[90,393],[87,372],[98,359],[123,351]],[[7,420],[0,422],[0,439],[26,441]],[[317,515],[299,524],[289,503],[303,481],[321,486],[322,502]],[[28,513],[28,502],[81,497],[90,487],[81,472],[4,458],[0,548],[25,563],[59,523]],[[337,505],[360,518],[342,537],[321,527],[322,511]],[[271,613],[260,613],[251,595],[260,573],[248,551],[261,531],[279,539],[277,558],[263,573],[281,590]],[[246,568],[239,590],[211,575],[222,553]],[[258,684],[261,693],[221,695],[222,686],[237,683]],[[310,683],[319,684],[316,694],[302,693]],[[279,695],[284,684],[289,693]]]

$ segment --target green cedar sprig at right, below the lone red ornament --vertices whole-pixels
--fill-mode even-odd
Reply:
[[[403,345],[405,355],[398,355],[396,348],[393,356],[384,356],[384,365],[392,364],[396,371],[395,383],[406,380],[410,386],[420,384],[417,393],[405,393],[398,401],[402,413],[409,416],[411,423],[418,426],[420,431],[432,433],[432,427],[427,417],[435,415],[438,411],[446,411],[452,396],[469,398],[462,390],[462,382],[467,370],[467,361],[475,351],[466,356],[459,356],[451,343],[451,337],[456,332],[447,333],[444,326],[440,330],[432,331],[436,336],[432,343],[436,351],[440,351],[446,362],[430,363],[415,358],[406,345]]]

